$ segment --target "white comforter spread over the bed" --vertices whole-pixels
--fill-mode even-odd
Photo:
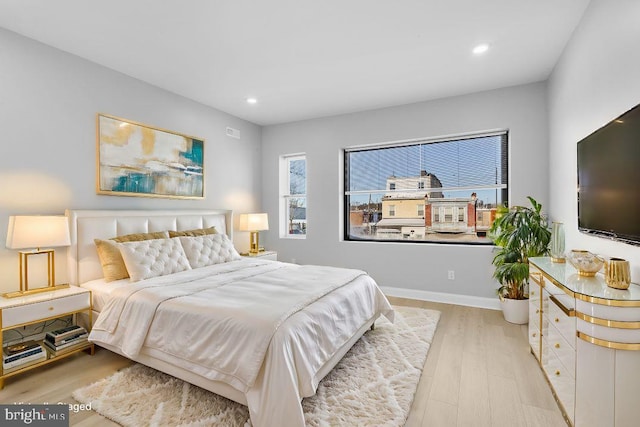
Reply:
[[[245,393],[256,426],[304,425],[300,400],[362,325],[393,311],[359,270],[242,260],[114,290],[90,340]]]

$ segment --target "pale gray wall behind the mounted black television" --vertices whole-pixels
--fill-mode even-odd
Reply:
[[[548,96],[551,217],[566,223],[567,249],[629,259],[636,283],[640,248],[578,231],[576,143],[640,103],[638,17],[640,2],[592,0],[549,80]]]

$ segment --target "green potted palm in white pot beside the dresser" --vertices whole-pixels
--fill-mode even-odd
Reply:
[[[547,254],[551,240],[547,219],[540,213],[542,205],[527,198],[531,207],[512,206],[489,229],[497,247],[493,277],[500,283],[497,293],[502,312],[507,322],[517,324],[527,323],[529,318],[529,257]]]

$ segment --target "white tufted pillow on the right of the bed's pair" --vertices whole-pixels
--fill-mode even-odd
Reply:
[[[235,261],[242,257],[226,234],[178,237],[191,268]]]

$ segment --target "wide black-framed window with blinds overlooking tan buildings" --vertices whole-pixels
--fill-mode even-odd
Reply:
[[[490,244],[508,204],[508,134],[349,148],[344,172],[345,240]]]

